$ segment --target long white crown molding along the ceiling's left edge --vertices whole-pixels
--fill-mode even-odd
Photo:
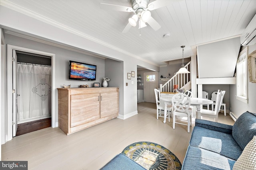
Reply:
[[[148,61],[148,60],[146,60],[146,59],[143,59],[143,58],[141,58],[141,57],[138,57],[137,55],[134,55],[134,54],[132,54],[132,53],[129,53],[129,52],[127,52],[127,51],[124,51],[124,50],[122,50],[122,49],[119,49],[119,48],[117,48],[117,47],[115,47],[115,46],[113,46],[113,45],[110,45],[110,44],[108,44],[108,43],[105,43],[104,41],[101,41],[101,40],[96,39],[96,38],[94,38],[94,37],[92,37],[92,36],[90,36],[90,35],[87,35],[87,34],[85,34],[85,33],[82,33],[81,31],[78,31],[78,30],[73,29],[73,28],[71,28],[71,27],[68,27],[68,26],[66,26],[66,25],[64,25],[64,24],[62,24],[62,23],[59,23],[59,22],[57,22],[57,21],[54,21],[54,20],[52,20],[52,19],[50,19],[50,18],[47,18],[47,17],[45,17],[45,16],[42,16],[42,15],[40,15],[40,14],[38,14],[38,13],[36,13],[36,12],[33,12],[33,11],[31,11],[31,10],[28,10],[28,9],[22,7],[22,6],[18,6],[17,4],[15,4],[15,3],[13,3],[13,2],[10,2],[10,1],[8,1],[8,0],[1,0],[1,1],[0,1],[0,5],[5,6],[5,7],[7,7],[7,8],[10,8],[10,9],[12,9],[12,10],[14,10],[14,11],[20,12],[20,13],[22,13],[22,14],[25,14],[25,15],[27,15],[27,16],[30,16],[30,17],[32,17],[32,18],[35,18],[36,20],[40,20],[40,21],[43,21],[44,23],[48,23],[48,24],[50,24],[50,25],[53,25],[53,26],[58,27],[58,28],[60,28],[60,29],[63,29],[63,30],[65,30],[65,31],[67,31],[67,32],[70,32],[70,33],[73,33],[73,34],[78,35],[78,36],[80,36],[80,37],[83,37],[83,38],[88,39],[88,40],[90,40],[90,41],[94,41],[95,43],[98,43],[98,44],[100,44],[100,45],[104,45],[105,47],[108,47],[108,48],[110,48],[110,49],[113,49],[113,50],[115,50],[115,51],[118,51],[118,52],[120,52],[120,53],[123,53],[123,54],[125,54],[125,55],[130,56],[130,57],[136,58],[136,59],[138,59],[138,60],[141,60],[141,61],[144,61],[144,62],[146,62],[146,63],[152,64],[152,65],[154,65],[154,66],[159,66],[158,64],[156,64],[156,63],[154,63],[154,62],[152,62],[152,61]],[[44,41],[44,42],[45,42],[45,41]],[[46,43],[46,42],[45,42],[45,43]],[[111,57],[111,56],[109,56],[109,57]]]

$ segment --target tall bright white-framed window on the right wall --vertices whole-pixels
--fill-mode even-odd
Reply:
[[[236,98],[247,103],[247,47],[239,53],[236,63]]]

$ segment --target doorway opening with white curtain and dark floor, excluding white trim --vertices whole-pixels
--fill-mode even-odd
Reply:
[[[24,51],[15,52],[16,136],[19,136],[52,126],[52,59]]]

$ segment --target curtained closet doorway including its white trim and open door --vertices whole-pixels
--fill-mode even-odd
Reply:
[[[54,54],[7,45],[7,141],[56,126],[54,66]]]

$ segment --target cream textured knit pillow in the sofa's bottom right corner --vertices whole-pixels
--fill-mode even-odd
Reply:
[[[256,169],[256,136],[246,145],[241,156],[233,166],[233,170],[255,170]]]

